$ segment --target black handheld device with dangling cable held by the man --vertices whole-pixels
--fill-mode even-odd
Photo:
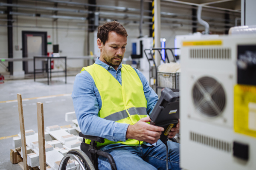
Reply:
[[[168,170],[168,133],[172,127],[176,127],[179,120],[179,99],[179,92],[174,92],[169,88],[164,88],[161,92],[160,99],[150,115],[151,125],[164,128],[164,131],[160,136],[160,140],[166,145],[166,170]]]

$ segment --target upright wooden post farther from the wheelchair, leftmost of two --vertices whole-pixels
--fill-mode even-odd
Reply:
[[[22,155],[23,155],[23,167],[24,167],[24,170],[29,170],[29,166],[27,165],[26,137],[25,137],[21,94],[17,94],[17,100],[18,100],[19,117],[20,117],[20,137],[21,137],[21,146],[22,146]]]

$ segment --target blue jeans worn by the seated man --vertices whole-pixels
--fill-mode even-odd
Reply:
[[[169,170],[180,170],[180,144],[168,141]],[[117,170],[166,170],[166,145],[160,140],[156,146],[109,144],[99,150],[110,153]],[[107,158],[99,156],[99,170],[111,170]]]

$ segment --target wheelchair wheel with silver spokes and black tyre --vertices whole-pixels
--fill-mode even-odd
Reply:
[[[61,160],[59,170],[95,170],[95,168],[82,150],[72,149]]]

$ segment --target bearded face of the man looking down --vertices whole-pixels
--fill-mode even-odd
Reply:
[[[101,50],[101,56],[107,62],[108,65],[118,66],[122,62],[125,54],[125,46],[127,45],[126,36],[116,34],[116,32],[111,31],[108,33],[108,40],[105,45],[101,44],[98,47]]]

